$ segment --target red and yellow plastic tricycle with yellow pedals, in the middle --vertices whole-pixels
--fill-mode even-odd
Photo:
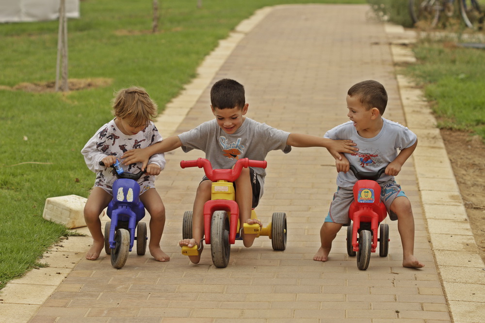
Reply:
[[[212,169],[210,161],[205,158],[197,160],[182,160],[181,168],[204,168],[207,178],[212,182],[211,200],[204,204],[204,238],[192,248],[182,247],[182,254],[197,255],[202,241],[210,245],[212,262],[216,267],[226,267],[229,263],[231,244],[241,240],[239,224],[239,206],[235,201],[233,182],[241,174],[242,168],[266,168],[266,161],[239,159],[233,169]],[[251,218],[256,219],[256,212],[251,211]],[[271,239],[274,250],[286,248],[286,214],[273,213],[272,222],[260,228],[259,224],[243,224],[244,233],[266,235]],[[183,216],[182,238],[192,238],[192,211],[186,211]],[[199,249],[197,249],[199,246]]]

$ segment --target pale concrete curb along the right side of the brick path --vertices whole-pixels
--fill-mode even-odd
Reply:
[[[401,26],[385,26],[395,64],[415,62],[402,46],[416,35]],[[400,39],[401,37],[404,38]],[[410,37],[410,38],[409,38]],[[407,38],[407,40],[406,40]],[[450,314],[454,322],[478,322],[485,317],[484,262],[478,254],[469,219],[436,119],[420,89],[397,75],[407,126],[418,135],[413,154],[423,214]]]

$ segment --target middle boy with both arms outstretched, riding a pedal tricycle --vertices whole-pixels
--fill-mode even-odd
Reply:
[[[145,149],[130,150],[123,155],[123,164],[143,162],[144,169],[151,155],[178,147],[182,147],[184,152],[192,149],[203,151],[214,169],[230,169],[240,158],[264,160],[272,150],[282,150],[286,154],[291,151],[291,146],[325,147],[335,158],[341,158],[339,153],[350,154],[358,150],[351,140],[289,133],[245,117],[249,105],[245,102],[244,87],[232,79],[219,80],[212,86],[210,103],[215,119]],[[251,208],[258,204],[262,195],[265,175],[264,169],[242,169],[241,176],[235,181],[241,227],[244,223],[262,226],[258,219],[251,219]],[[206,178],[199,184],[194,200],[193,239],[181,240],[180,246],[193,247],[201,243],[204,235],[204,204],[210,200],[211,184]],[[255,238],[255,234],[242,234],[246,247],[252,246]],[[189,258],[193,263],[198,263],[200,253]]]

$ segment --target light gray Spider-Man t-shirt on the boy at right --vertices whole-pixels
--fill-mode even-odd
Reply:
[[[335,128],[328,130],[325,138],[330,139],[351,139],[359,148],[356,154],[345,154],[351,165],[358,171],[373,171],[387,166],[396,159],[397,149],[403,150],[411,147],[417,140],[416,135],[404,125],[382,118],[384,123],[382,129],[373,138],[363,138],[357,133],[354,123],[348,121]],[[382,175],[379,183],[393,180],[394,176]],[[357,179],[352,173],[339,172],[337,175],[337,185],[340,187],[354,186]]]

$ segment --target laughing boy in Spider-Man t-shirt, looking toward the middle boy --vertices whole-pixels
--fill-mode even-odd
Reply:
[[[336,158],[338,190],[320,229],[322,245],[313,257],[327,261],[332,241],[343,225],[350,222],[349,207],[354,200],[352,187],[357,182],[350,164],[358,171],[372,171],[386,167],[386,175],[378,180],[382,188],[381,200],[389,211],[397,215],[399,234],[403,243],[403,266],[422,268],[424,264],[414,256],[414,218],[411,203],[401,187],[394,181],[404,162],[418,144],[418,138],[408,128],[382,117],[388,102],[384,86],[368,80],[352,86],[347,93],[347,116],[350,121],[329,130],[325,138],[352,139],[359,147],[358,153]],[[397,149],[401,150],[397,154]],[[393,215],[391,213],[391,215]],[[390,216],[393,220],[392,216]]]

